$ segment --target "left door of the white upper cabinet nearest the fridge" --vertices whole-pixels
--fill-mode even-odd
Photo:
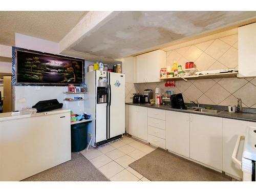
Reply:
[[[136,56],[136,82],[146,82],[147,54]]]

